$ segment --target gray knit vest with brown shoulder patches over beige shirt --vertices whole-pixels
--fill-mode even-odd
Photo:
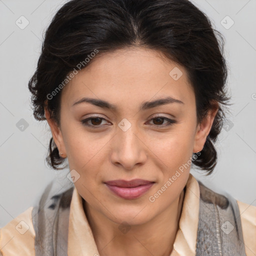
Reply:
[[[246,256],[236,200],[218,194],[200,181],[196,256]],[[74,185],[52,181],[33,207],[35,256],[66,256],[70,202]],[[86,242],[86,241],[84,241]],[[76,256],[76,255],[69,255]],[[188,255],[190,256],[190,255]]]

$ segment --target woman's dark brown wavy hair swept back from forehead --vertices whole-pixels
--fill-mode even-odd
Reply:
[[[192,158],[208,175],[217,162],[214,142],[225,118],[223,109],[229,104],[223,45],[222,34],[188,0],[70,0],[47,27],[36,70],[28,82],[34,118],[45,120],[46,107],[50,118],[60,124],[61,90],[50,99],[47,95],[95,49],[99,53],[92,61],[104,52],[125,47],[158,50],[185,68],[195,94],[197,122],[217,102],[218,111],[203,149]],[[51,137],[48,165],[62,169],[58,165],[64,159]]]

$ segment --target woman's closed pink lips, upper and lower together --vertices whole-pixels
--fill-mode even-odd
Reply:
[[[155,182],[137,178],[132,180],[110,180],[104,183],[119,197],[135,199],[143,195]]]

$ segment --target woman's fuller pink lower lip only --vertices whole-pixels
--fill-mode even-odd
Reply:
[[[140,197],[142,194],[144,194],[153,185],[153,182],[145,185],[136,186],[136,187],[120,187],[120,186],[109,185],[107,183],[105,184],[116,195],[124,199],[135,199]]]

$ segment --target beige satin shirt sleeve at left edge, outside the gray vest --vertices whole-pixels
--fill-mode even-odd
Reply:
[[[32,209],[27,208],[0,228],[0,255],[35,255]]]

